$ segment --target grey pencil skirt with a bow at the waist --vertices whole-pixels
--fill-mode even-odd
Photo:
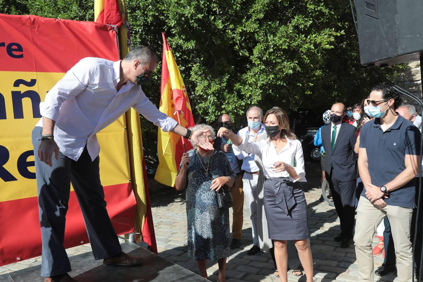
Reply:
[[[266,178],[264,212],[270,239],[310,238],[307,202],[301,182],[292,183],[289,178]]]

